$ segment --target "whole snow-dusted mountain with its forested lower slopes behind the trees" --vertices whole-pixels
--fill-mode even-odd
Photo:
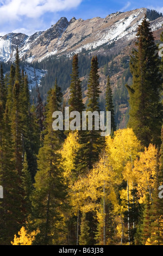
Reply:
[[[106,77],[109,75],[115,106],[115,121],[118,128],[125,127],[128,120],[128,92],[125,84],[132,82],[129,59],[135,47],[137,27],[147,15],[156,43],[160,43],[163,30],[163,16],[146,8],[117,12],[105,18],[70,21],[66,17],[46,31],[33,35],[9,33],[0,36],[0,60],[7,73],[15,60],[18,48],[21,68],[28,74],[32,99],[36,100],[36,82],[42,100],[46,102],[47,92],[54,85],[55,78],[68,100],[72,71],[72,57],[78,53],[79,76],[82,81],[84,102],[87,97],[92,56],[98,57],[101,86],[101,109],[105,106]]]

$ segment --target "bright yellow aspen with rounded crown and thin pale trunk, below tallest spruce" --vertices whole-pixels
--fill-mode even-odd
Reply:
[[[130,219],[129,219],[129,191],[133,188],[132,172],[133,164],[139,151],[141,150],[140,141],[135,136],[131,128],[120,129],[115,132],[113,138],[106,138],[106,151],[112,168],[120,175],[122,180],[127,182],[127,223],[128,223],[128,243],[130,245]],[[128,164],[128,166],[127,166]],[[126,168],[127,166],[127,168]],[[134,200],[133,200],[134,203]],[[134,222],[133,222],[134,223]]]

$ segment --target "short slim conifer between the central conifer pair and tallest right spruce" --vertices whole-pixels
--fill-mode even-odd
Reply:
[[[108,76],[107,84],[106,84],[106,111],[111,111],[111,134],[116,130],[115,125],[115,117],[114,117],[114,105],[112,102],[112,89],[110,85],[110,78]]]

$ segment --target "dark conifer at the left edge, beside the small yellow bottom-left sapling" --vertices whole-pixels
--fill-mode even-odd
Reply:
[[[11,122],[8,106],[5,109],[2,131],[3,158],[0,160],[0,184],[3,186],[4,196],[0,203],[0,244],[10,245],[14,234],[22,224],[22,195],[19,190],[18,172],[14,161],[14,143],[12,141]]]

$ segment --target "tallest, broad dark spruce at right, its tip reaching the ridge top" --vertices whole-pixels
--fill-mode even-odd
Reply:
[[[162,76],[158,47],[145,16],[137,29],[137,48],[130,58],[133,84],[127,86],[129,92],[129,122],[135,135],[148,147],[149,143],[160,144],[162,105],[160,92]]]

